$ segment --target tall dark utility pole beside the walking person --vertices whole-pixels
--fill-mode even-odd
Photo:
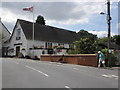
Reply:
[[[111,32],[111,17],[110,17],[110,0],[107,0],[107,24],[108,24],[108,50],[110,49],[110,32]]]

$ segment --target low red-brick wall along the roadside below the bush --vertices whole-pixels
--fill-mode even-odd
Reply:
[[[62,55],[41,55],[40,58],[42,61],[57,62],[61,56]],[[98,63],[98,57],[96,54],[64,55],[62,62],[96,67]]]

